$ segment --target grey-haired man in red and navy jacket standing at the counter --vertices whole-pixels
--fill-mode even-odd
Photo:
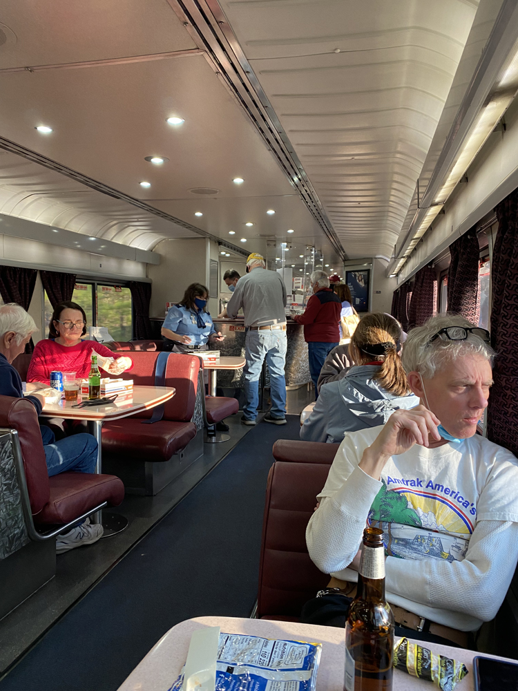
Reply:
[[[309,372],[315,385],[315,400],[318,398],[316,384],[327,354],[340,341],[340,311],[342,303],[336,293],[329,289],[329,277],[325,271],[314,271],[309,276],[313,295],[309,298],[304,314],[294,320],[304,325],[304,338],[309,352]]]

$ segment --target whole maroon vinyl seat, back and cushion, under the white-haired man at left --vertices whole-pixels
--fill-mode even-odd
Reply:
[[[18,432],[36,527],[73,522],[103,502],[116,507],[124,499],[124,485],[114,475],[66,472],[48,477],[38,417],[30,401],[0,396],[0,427]]]

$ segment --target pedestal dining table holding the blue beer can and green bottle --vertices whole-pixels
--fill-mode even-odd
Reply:
[[[61,399],[58,403],[46,403],[41,411],[41,417],[57,417],[69,420],[84,420],[88,423],[88,432],[97,439],[97,464],[95,473],[102,473],[102,424],[111,420],[119,420],[129,417],[144,410],[151,410],[164,404],[175,395],[173,386],[133,386],[131,395],[117,395],[117,398],[109,404],[97,404],[81,407],[88,401],[79,395],[77,401]],[[108,394],[107,397],[110,395]],[[93,403],[93,401],[92,401]],[[119,513],[97,511],[92,516],[95,523],[102,523],[103,537],[109,537],[124,530],[128,525],[128,519]]]

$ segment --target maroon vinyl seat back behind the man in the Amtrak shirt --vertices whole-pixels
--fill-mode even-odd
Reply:
[[[300,609],[327,585],[306,547],[306,527],[339,444],[274,444],[268,476],[259,567],[257,617],[298,621]]]

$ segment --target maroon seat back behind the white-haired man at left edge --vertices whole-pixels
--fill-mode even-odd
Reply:
[[[0,396],[0,427],[18,432],[30,508],[35,515],[44,509],[50,498],[47,464],[36,408],[23,398]]]

